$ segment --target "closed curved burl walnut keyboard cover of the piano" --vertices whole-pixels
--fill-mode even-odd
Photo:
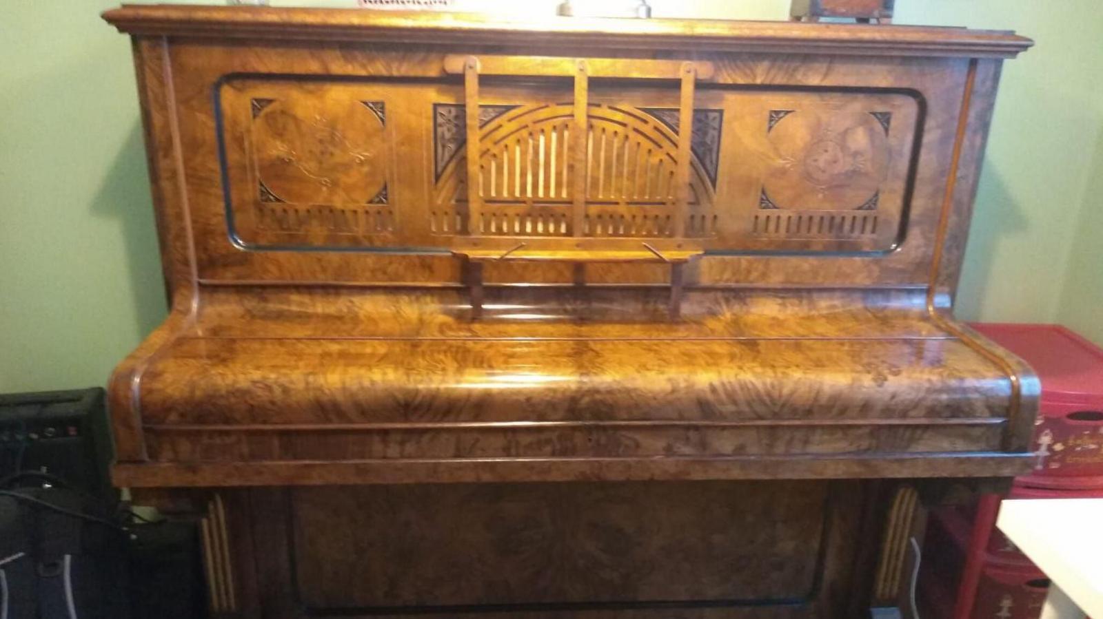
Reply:
[[[586,461],[555,477],[570,479],[615,467],[597,460],[655,457],[678,465],[645,478],[696,477],[695,459],[713,460],[703,475],[739,478],[786,455],[968,461],[1021,428],[999,369],[917,319],[921,291],[699,290],[678,323],[661,289],[491,289],[479,322],[463,297],[212,291],[138,376],[147,456],[251,463],[250,479],[269,470],[274,482],[326,460],[360,464],[324,479],[377,463],[370,478],[396,480],[394,465],[417,461],[410,480],[427,480],[453,458],[467,461],[454,479],[516,479],[524,463],[546,478],[557,458]],[[136,485],[164,475],[126,470]]]

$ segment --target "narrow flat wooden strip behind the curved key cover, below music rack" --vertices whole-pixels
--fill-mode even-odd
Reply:
[[[953,339],[923,290],[693,287],[682,319],[666,287],[488,285],[483,319],[450,287],[212,286],[181,335],[397,339]]]

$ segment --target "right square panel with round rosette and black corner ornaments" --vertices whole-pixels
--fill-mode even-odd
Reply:
[[[857,243],[855,249],[891,247],[907,214],[914,100],[808,94],[756,104],[748,112],[760,116],[749,130],[761,137],[761,176],[748,232],[779,241]]]

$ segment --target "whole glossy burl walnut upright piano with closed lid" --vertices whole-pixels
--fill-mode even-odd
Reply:
[[[1027,39],[105,19],[171,298],[114,476],[219,615],[910,616],[922,506],[1031,466],[1037,379],[952,316]]]

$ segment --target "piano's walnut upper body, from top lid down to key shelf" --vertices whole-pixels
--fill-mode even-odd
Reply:
[[[717,24],[694,24],[700,46],[678,52],[686,24],[632,35],[692,61],[678,64],[607,48],[628,36],[622,22],[565,57],[472,45],[468,18],[288,11],[280,25],[277,13],[107,15],[136,34],[173,292],[173,318],[113,380],[120,461],[1025,448],[1029,371],[945,316],[998,76],[992,45],[1024,40],[775,24],[767,41],[758,24],[724,26],[748,45],[732,51],[708,39]],[[364,39],[345,42],[338,15]],[[318,41],[264,42],[289,23]],[[162,28],[186,36],[149,34]],[[439,29],[442,44],[387,42],[396,29]],[[892,55],[875,36],[888,32]],[[764,53],[810,33],[838,54]],[[534,74],[553,77],[510,78]],[[609,82],[619,75],[636,80]],[[505,237],[516,258],[514,240],[534,235],[586,236],[599,260],[602,239],[672,234],[699,236],[706,253],[676,310],[663,264],[512,260],[486,263],[471,307],[447,252],[473,234]],[[141,484],[140,467],[120,470]]]

